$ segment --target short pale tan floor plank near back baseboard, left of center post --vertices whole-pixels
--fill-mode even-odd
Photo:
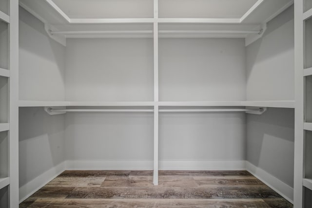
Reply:
[[[45,187],[100,187],[105,177],[56,177]]]

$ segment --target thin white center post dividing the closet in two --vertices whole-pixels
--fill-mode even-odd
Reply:
[[[154,0],[154,101],[158,102],[158,0]],[[158,104],[154,106],[154,174],[153,184],[158,185]]]

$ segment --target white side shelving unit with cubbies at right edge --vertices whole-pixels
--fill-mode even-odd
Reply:
[[[294,207],[312,206],[312,1],[294,1]]]

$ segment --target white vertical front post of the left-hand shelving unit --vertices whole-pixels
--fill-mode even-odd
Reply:
[[[10,2],[9,23],[9,203],[19,207],[19,0]]]

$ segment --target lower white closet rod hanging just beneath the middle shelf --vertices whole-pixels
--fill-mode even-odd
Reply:
[[[49,109],[50,112],[154,112],[153,109]],[[159,112],[262,112],[257,109],[160,109]]]

